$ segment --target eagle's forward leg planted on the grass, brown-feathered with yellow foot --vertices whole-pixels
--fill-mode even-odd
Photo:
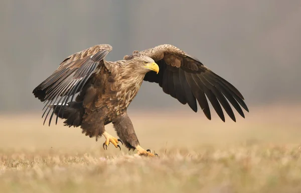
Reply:
[[[157,154],[151,153],[149,150],[145,150],[140,147],[138,138],[136,136],[133,124],[129,119],[127,113],[119,116],[112,121],[115,131],[118,137],[122,140],[124,145],[129,149],[137,149],[138,155],[154,157]]]

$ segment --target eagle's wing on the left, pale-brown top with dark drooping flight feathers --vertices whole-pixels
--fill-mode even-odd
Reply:
[[[104,66],[103,59],[111,50],[112,47],[110,45],[101,44],[70,55],[60,64],[53,74],[33,90],[36,98],[41,102],[47,102],[45,105],[47,108],[42,116],[44,117],[47,112],[44,124],[47,116],[53,109],[50,108],[50,103],[64,104],[57,106],[60,107],[58,112],[64,111],[70,97],[72,101],[74,95],[81,91],[89,77],[95,72],[95,69],[98,66]],[[57,107],[55,107],[51,114],[49,125]]]

